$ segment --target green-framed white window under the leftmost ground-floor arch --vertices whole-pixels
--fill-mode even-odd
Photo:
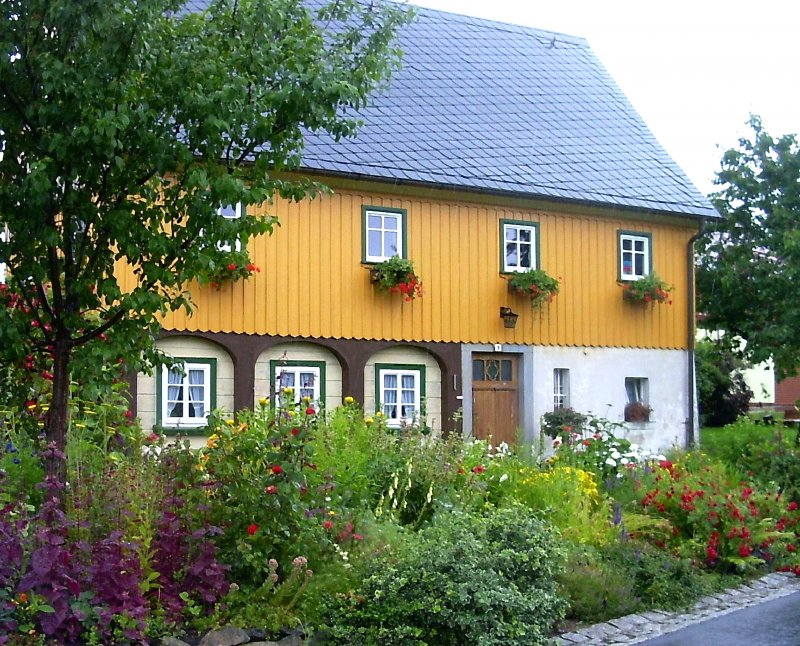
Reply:
[[[156,423],[167,432],[204,428],[217,407],[217,360],[208,357],[172,357],[156,379]],[[202,376],[201,382],[194,381]],[[177,413],[177,414],[176,414]]]

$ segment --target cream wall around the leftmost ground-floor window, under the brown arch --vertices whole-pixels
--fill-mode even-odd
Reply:
[[[216,359],[217,360],[217,408],[230,414],[233,411],[233,360],[230,355],[220,346],[190,336],[173,336],[160,339],[156,346],[168,355],[181,358],[192,359]],[[152,430],[156,423],[156,395],[157,380],[156,375],[145,375],[139,373],[136,377],[137,398],[136,408],[139,419],[142,422],[142,429]]]

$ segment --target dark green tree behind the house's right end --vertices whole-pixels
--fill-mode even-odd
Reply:
[[[749,362],[772,358],[782,378],[800,367],[800,147],[758,117],[750,126],[717,174],[723,217],[698,247],[699,311],[703,327],[723,330]]]

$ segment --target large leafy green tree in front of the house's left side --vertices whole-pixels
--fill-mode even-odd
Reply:
[[[405,12],[314,4],[0,4],[0,352],[51,382],[54,453],[76,359],[151,360],[157,315],[190,307],[186,284],[225,267],[226,244],[246,248],[275,224],[218,207],[324,190],[282,172],[298,168],[304,132],[354,135],[399,64]]]

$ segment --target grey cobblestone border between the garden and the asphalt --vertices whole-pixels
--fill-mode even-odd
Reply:
[[[800,577],[790,573],[768,574],[736,588],[699,599],[688,611],[650,610],[586,626],[554,638],[557,646],[638,644],[680,630],[706,619],[755,606],[800,591]]]

